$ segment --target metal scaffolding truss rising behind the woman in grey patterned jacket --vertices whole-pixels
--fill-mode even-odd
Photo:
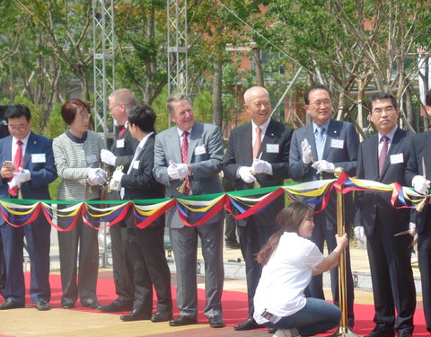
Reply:
[[[92,0],[94,127],[105,137],[113,133],[107,125],[108,96],[115,89],[114,0]]]

